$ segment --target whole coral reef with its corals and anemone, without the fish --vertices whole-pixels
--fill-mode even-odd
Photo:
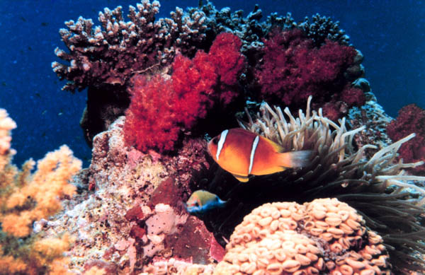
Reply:
[[[60,30],[68,52],[55,53],[69,64],[53,62],[53,70],[69,81],[64,90],[88,88],[81,127],[93,156],[74,186],[67,181],[79,166],[67,147],[47,155],[33,174],[33,161],[21,172],[10,165],[16,125],[0,110],[6,272],[425,270],[425,178],[404,171],[423,162],[397,158],[414,134],[392,122],[389,136],[391,127],[400,136],[390,144],[388,117],[363,78],[363,55],[338,22],[317,14],[295,23],[290,13],[260,21],[258,5],[244,17],[209,1],[156,20],[158,11],[158,1],[142,0],[130,6],[128,22],[118,6],[99,13],[101,26],[80,17]],[[305,112],[263,103],[249,115],[261,100]],[[244,107],[242,128],[287,151],[311,150],[310,165],[244,185],[221,170],[203,137],[235,127],[229,117],[242,117]],[[421,118],[401,120],[419,125]],[[421,131],[414,131],[418,139]],[[190,216],[184,201],[197,189],[227,203]],[[34,269],[27,272],[28,264]]]

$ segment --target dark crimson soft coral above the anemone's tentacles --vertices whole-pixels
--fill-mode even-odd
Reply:
[[[309,95],[317,105],[330,103],[324,115],[341,116],[338,102],[346,109],[363,105],[365,97],[350,85],[344,73],[353,65],[356,49],[326,40],[320,47],[300,29],[273,30],[264,42],[263,63],[256,69],[261,98],[268,103],[304,105]],[[341,105],[341,103],[339,103]]]

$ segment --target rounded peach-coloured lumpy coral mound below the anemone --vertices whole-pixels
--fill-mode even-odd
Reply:
[[[244,217],[215,274],[390,274],[382,238],[337,199],[275,202]]]

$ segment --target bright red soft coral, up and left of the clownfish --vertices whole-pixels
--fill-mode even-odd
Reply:
[[[183,129],[190,130],[212,107],[232,103],[239,95],[237,78],[245,66],[241,42],[222,33],[207,54],[177,56],[168,76],[135,76],[126,112],[125,141],[141,151],[170,151]]]

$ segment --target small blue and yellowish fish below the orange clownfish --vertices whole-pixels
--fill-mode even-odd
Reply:
[[[186,201],[186,210],[191,214],[203,214],[217,207],[224,207],[227,201],[222,201],[216,194],[198,190]]]

